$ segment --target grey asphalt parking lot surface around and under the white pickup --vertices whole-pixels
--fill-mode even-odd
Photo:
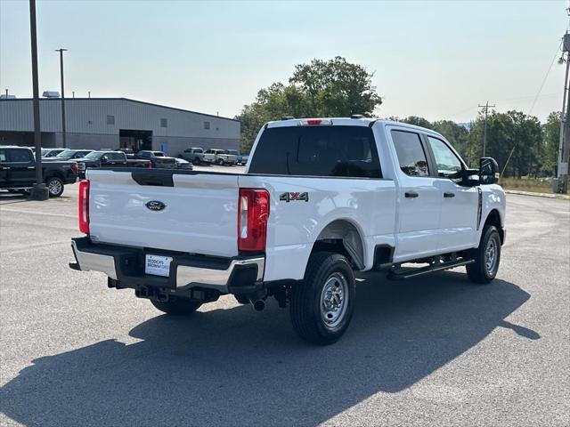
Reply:
[[[363,277],[347,334],[314,347],[274,301],[168,318],[69,270],[76,193],[0,194],[1,425],[570,424],[567,200],[509,195],[492,285]]]

